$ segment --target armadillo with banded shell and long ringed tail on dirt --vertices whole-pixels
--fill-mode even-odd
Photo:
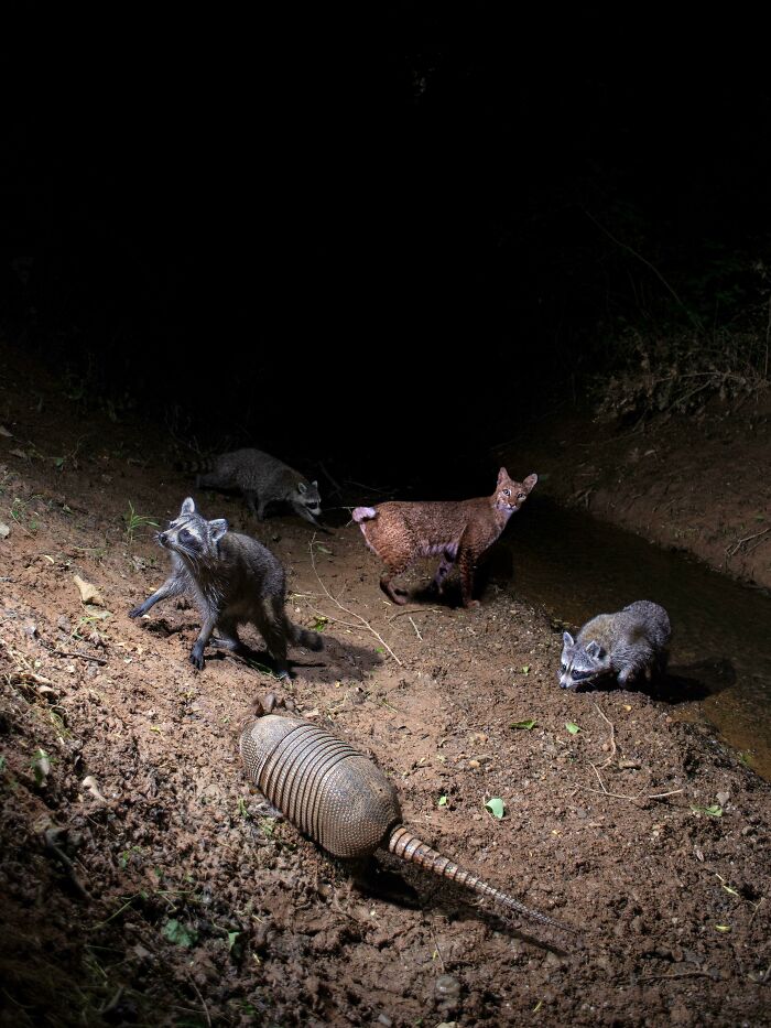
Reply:
[[[240,737],[249,778],[301,832],[337,857],[383,848],[524,917],[574,931],[454,864],[402,824],[393,784],[365,754],[295,715],[264,714]]]

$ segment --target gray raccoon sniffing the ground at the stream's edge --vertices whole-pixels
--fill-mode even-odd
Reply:
[[[619,685],[666,670],[670,618],[663,607],[638,599],[617,614],[598,614],[578,632],[563,635],[560,685],[577,689],[615,674]]]

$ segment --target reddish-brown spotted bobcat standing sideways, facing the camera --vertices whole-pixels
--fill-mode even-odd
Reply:
[[[471,598],[477,561],[537,480],[537,475],[529,475],[524,481],[514,481],[502,467],[492,496],[439,502],[390,500],[376,507],[356,507],[354,520],[369,549],[386,564],[380,588],[393,603],[405,604],[406,593],[394,588],[391,578],[420,556],[439,556],[432,583],[437,593],[442,594],[444,581],[457,561],[464,607],[477,606],[479,600]]]

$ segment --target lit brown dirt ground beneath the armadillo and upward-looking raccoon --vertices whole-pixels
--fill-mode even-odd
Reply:
[[[325,649],[292,651],[289,685],[211,651],[197,672],[195,608],[127,616],[167,566],[142,519],[194,493],[154,426],[78,419],[9,350],[0,426],[1,1024],[769,1022],[771,786],[706,726],[665,695],[557,689],[560,631],[506,582],[468,612],[457,593],[394,608],[345,510],[322,534],[214,494],[200,507],[282,560],[291,616]],[[670,466],[663,442],[629,446],[637,468]],[[721,511],[726,475],[701,494]],[[742,524],[727,516],[721,542]],[[237,737],[271,689],[371,753],[416,834],[578,934],[395,857],[355,884],[262,816]]]

